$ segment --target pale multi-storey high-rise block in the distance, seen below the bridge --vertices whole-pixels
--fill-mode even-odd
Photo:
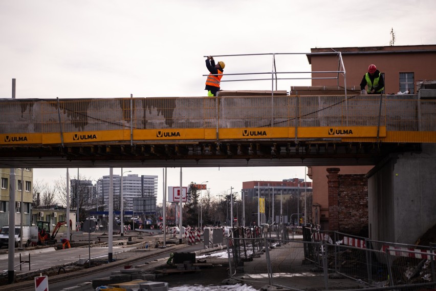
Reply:
[[[99,204],[104,206],[104,210],[108,210],[109,201],[109,179],[110,176],[103,176],[98,179],[97,192],[99,197]],[[120,197],[121,197],[121,176],[113,175],[113,191],[114,191],[114,210],[120,210]],[[134,198],[153,197],[156,199],[158,194],[158,176],[154,175],[141,175],[129,174],[123,176],[123,206],[124,211],[133,211]],[[103,199],[102,199],[103,197]],[[100,207],[100,210],[102,208]]]

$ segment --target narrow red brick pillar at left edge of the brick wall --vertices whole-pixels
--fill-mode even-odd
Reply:
[[[339,168],[327,168],[329,187],[329,230],[339,231]]]

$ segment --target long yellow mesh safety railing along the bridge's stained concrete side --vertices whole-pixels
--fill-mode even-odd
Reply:
[[[295,128],[296,140],[302,128],[346,124],[433,136],[436,131],[436,100],[416,95],[354,95],[347,105],[343,96],[274,96],[272,107],[266,96],[218,98],[3,99],[0,134],[127,130],[133,143],[134,131],[143,129]]]

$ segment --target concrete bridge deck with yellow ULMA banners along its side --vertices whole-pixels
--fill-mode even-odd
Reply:
[[[0,167],[376,164],[436,143],[423,92],[0,99]]]

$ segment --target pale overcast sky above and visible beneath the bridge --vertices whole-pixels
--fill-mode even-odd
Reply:
[[[396,46],[434,45],[434,11],[434,0],[0,0],[0,98],[11,97],[12,78],[16,98],[206,96],[205,55],[389,46],[391,29]],[[271,56],[215,59],[226,63],[229,74],[272,68]],[[276,64],[278,71],[310,71],[304,55],[277,56]],[[301,85],[310,80],[280,81],[278,89]],[[271,83],[222,82],[221,87],[271,90]],[[159,175],[161,197],[162,169],[128,170]],[[179,171],[168,170],[169,185],[179,184]],[[35,169],[34,179],[51,182],[65,172]],[[77,169],[71,172],[77,175]],[[97,179],[109,170],[80,172]],[[304,178],[303,167],[183,173],[184,184],[209,181],[212,194],[230,186],[240,190],[242,181]]]

